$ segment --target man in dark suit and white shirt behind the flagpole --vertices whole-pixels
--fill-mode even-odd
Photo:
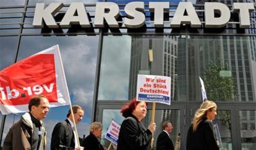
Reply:
[[[74,113],[75,124],[77,125],[80,120],[82,120],[84,111],[79,105],[74,105],[72,110]],[[78,146],[78,140],[79,139],[75,136],[74,122],[69,109],[67,119],[56,124],[53,129],[53,133],[51,135],[51,150],[69,148],[80,149]]]

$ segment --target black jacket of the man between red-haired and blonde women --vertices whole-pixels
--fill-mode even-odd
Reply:
[[[156,141],[156,150],[174,150],[173,141],[166,132],[161,132]]]

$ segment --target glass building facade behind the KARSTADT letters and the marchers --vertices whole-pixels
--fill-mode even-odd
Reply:
[[[103,0],[102,0],[103,1]],[[83,2],[95,20],[95,2]],[[122,123],[122,105],[136,95],[137,75],[152,74],[171,77],[171,105],[156,105],[156,139],[161,124],[171,120],[171,140],[175,144],[181,133],[180,149],[186,149],[187,129],[195,110],[202,102],[199,76],[205,83],[209,100],[216,101],[218,124],[223,149],[256,149],[256,10],[250,13],[250,28],[242,30],[231,20],[226,28],[205,29],[170,28],[177,1],[170,2],[169,12],[164,15],[164,28],[155,28],[153,14],[145,2],[145,26],[139,29],[121,25],[113,28],[35,28],[32,25],[36,2],[64,2],[64,7],[54,17],[60,22],[73,1],[23,0],[0,1],[0,70],[36,52],[59,44],[67,85],[73,105],[85,108],[85,116],[78,125],[79,136],[88,135],[90,123],[103,124],[101,143],[108,148],[104,138],[111,120]],[[124,4],[131,1],[108,1],[119,5],[122,22],[126,13]],[[202,4],[206,1],[191,1],[195,4],[198,17],[203,18]],[[228,4],[233,2],[220,1]],[[254,2],[255,1],[239,1]],[[255,6],[254,6],[255,7]],[[167,17],[166,17],[167,16]],[[148,60],[148,50],[153,50],[153,61]],[[145,127],[151,122],[151,104],[143,119]],[[47,149],[54,125],[66,119],[68,106],[51,108],[44,120]],[[58,114],[58,115],[56,115]],[[6,116],[2,141],[9,128],[22,114]],[[0,120],[4,120],[0,114]]]

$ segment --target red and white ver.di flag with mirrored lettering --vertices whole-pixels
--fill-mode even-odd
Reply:
[[[2,114],[27,112],[28,103],[35,95],[47,97],[50,107],[70,105],[59,45],[0,71]]]

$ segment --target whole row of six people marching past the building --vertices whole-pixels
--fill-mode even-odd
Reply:
[[[125,119],[119,131],[117,150],[152,149],[150,144],[156,124],[151,122],[147,128],[142,124],[142,120],[147,115],[147,105],[146,101],[137,101],[134,98],[121,108],[121,114]],[[187,132],[187,150],[219,149],[212,123],[217,114],[216,109],[217,105],[213,101],[205,101],[197,109]],[[48,98],[42,95],[33,97],[28,104],[28,110],[28,113],[23,114],[20,120],[12,125],[2,149],[46,149],[43,119],[49,112]],[[106,150],[99,141],[103,130],[100,122],[93,122],[90,125],[90,134],[81,143],[79,142],[75,127],[82,120],[83,115],[84,110],[79,105],[69,109],[67,119],[56,124],[51,133],[51,149]],[[173,125],[166,120],[161,127],[163,131],[156,139],[156,150],[173,150],[174,144],[169,135]]]

